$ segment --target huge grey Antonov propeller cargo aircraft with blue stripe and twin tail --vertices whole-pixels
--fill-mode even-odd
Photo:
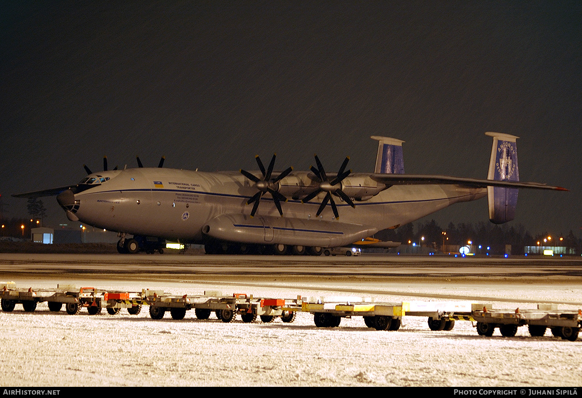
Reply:
[[[275,155],[260,171],[200,172],[162,168],[107,170],[80,183],[15,195],[58,195],[71,221],[119,233],[120,253],[153,251],[148,241],[204,244],[210,254],[320,255],[323,248],[363,241],[379,230],[398,228],[457,202],[487,196],[489,218],[514,218],[517,189],[566,190],[519,182],[516,138],[493,137],[487,179],[404,174],[403,141],[378,140],[374,173],[274,171]],[[129,237],[128,235],[133,235]]]

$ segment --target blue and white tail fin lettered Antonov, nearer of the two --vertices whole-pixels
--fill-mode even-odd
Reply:
[[[516,136],[503,133],[485,133],[493,137],[489,160],[488,180],[519,181]],[[512,221],[517,207],[517,188],[487,187],[489,220],[495,224]]]

